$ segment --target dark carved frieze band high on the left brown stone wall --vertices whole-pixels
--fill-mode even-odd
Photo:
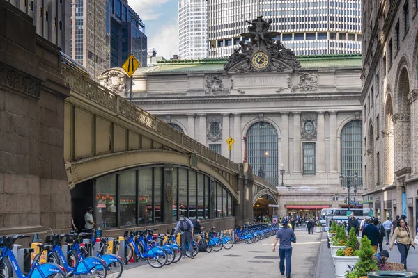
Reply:
[[[0,83],[31,97],[40,97],[41,82],[0,63]]]

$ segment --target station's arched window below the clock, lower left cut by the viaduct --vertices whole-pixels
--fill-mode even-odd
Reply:
[[[277,130],[268,122],[257,122],[247,131],[247,159],[254,174],[277,186]]]

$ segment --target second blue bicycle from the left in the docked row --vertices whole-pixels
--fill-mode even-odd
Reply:
[[[107,264],[104,260],[96,256],[88,256],[88,251],[81,243],[82,238],[89,236],[86,233],[80,234],[53,234],[47,236],[45,242],[51,243],[52,249],[48,252],[48,261],[56,264],[62,264],[68,271],[67,276],[93,275],[93,277],[106,278]],[[65,259],[63,250],[61,250],[61,240],[66,238],[67,243],[72,243],[68,251],[68,261]]]

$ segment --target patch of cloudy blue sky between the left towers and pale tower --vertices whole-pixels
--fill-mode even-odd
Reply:
[[[148,48],[157,56],[170,58],[177,54],[178,0],[128,0],[131,8],[145,24]]]

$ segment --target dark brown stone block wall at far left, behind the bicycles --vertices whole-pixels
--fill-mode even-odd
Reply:
[[[59,232],[71,222],[61,53],[7,1],[0,15],[13,26],[0,28],[0,234]]]

